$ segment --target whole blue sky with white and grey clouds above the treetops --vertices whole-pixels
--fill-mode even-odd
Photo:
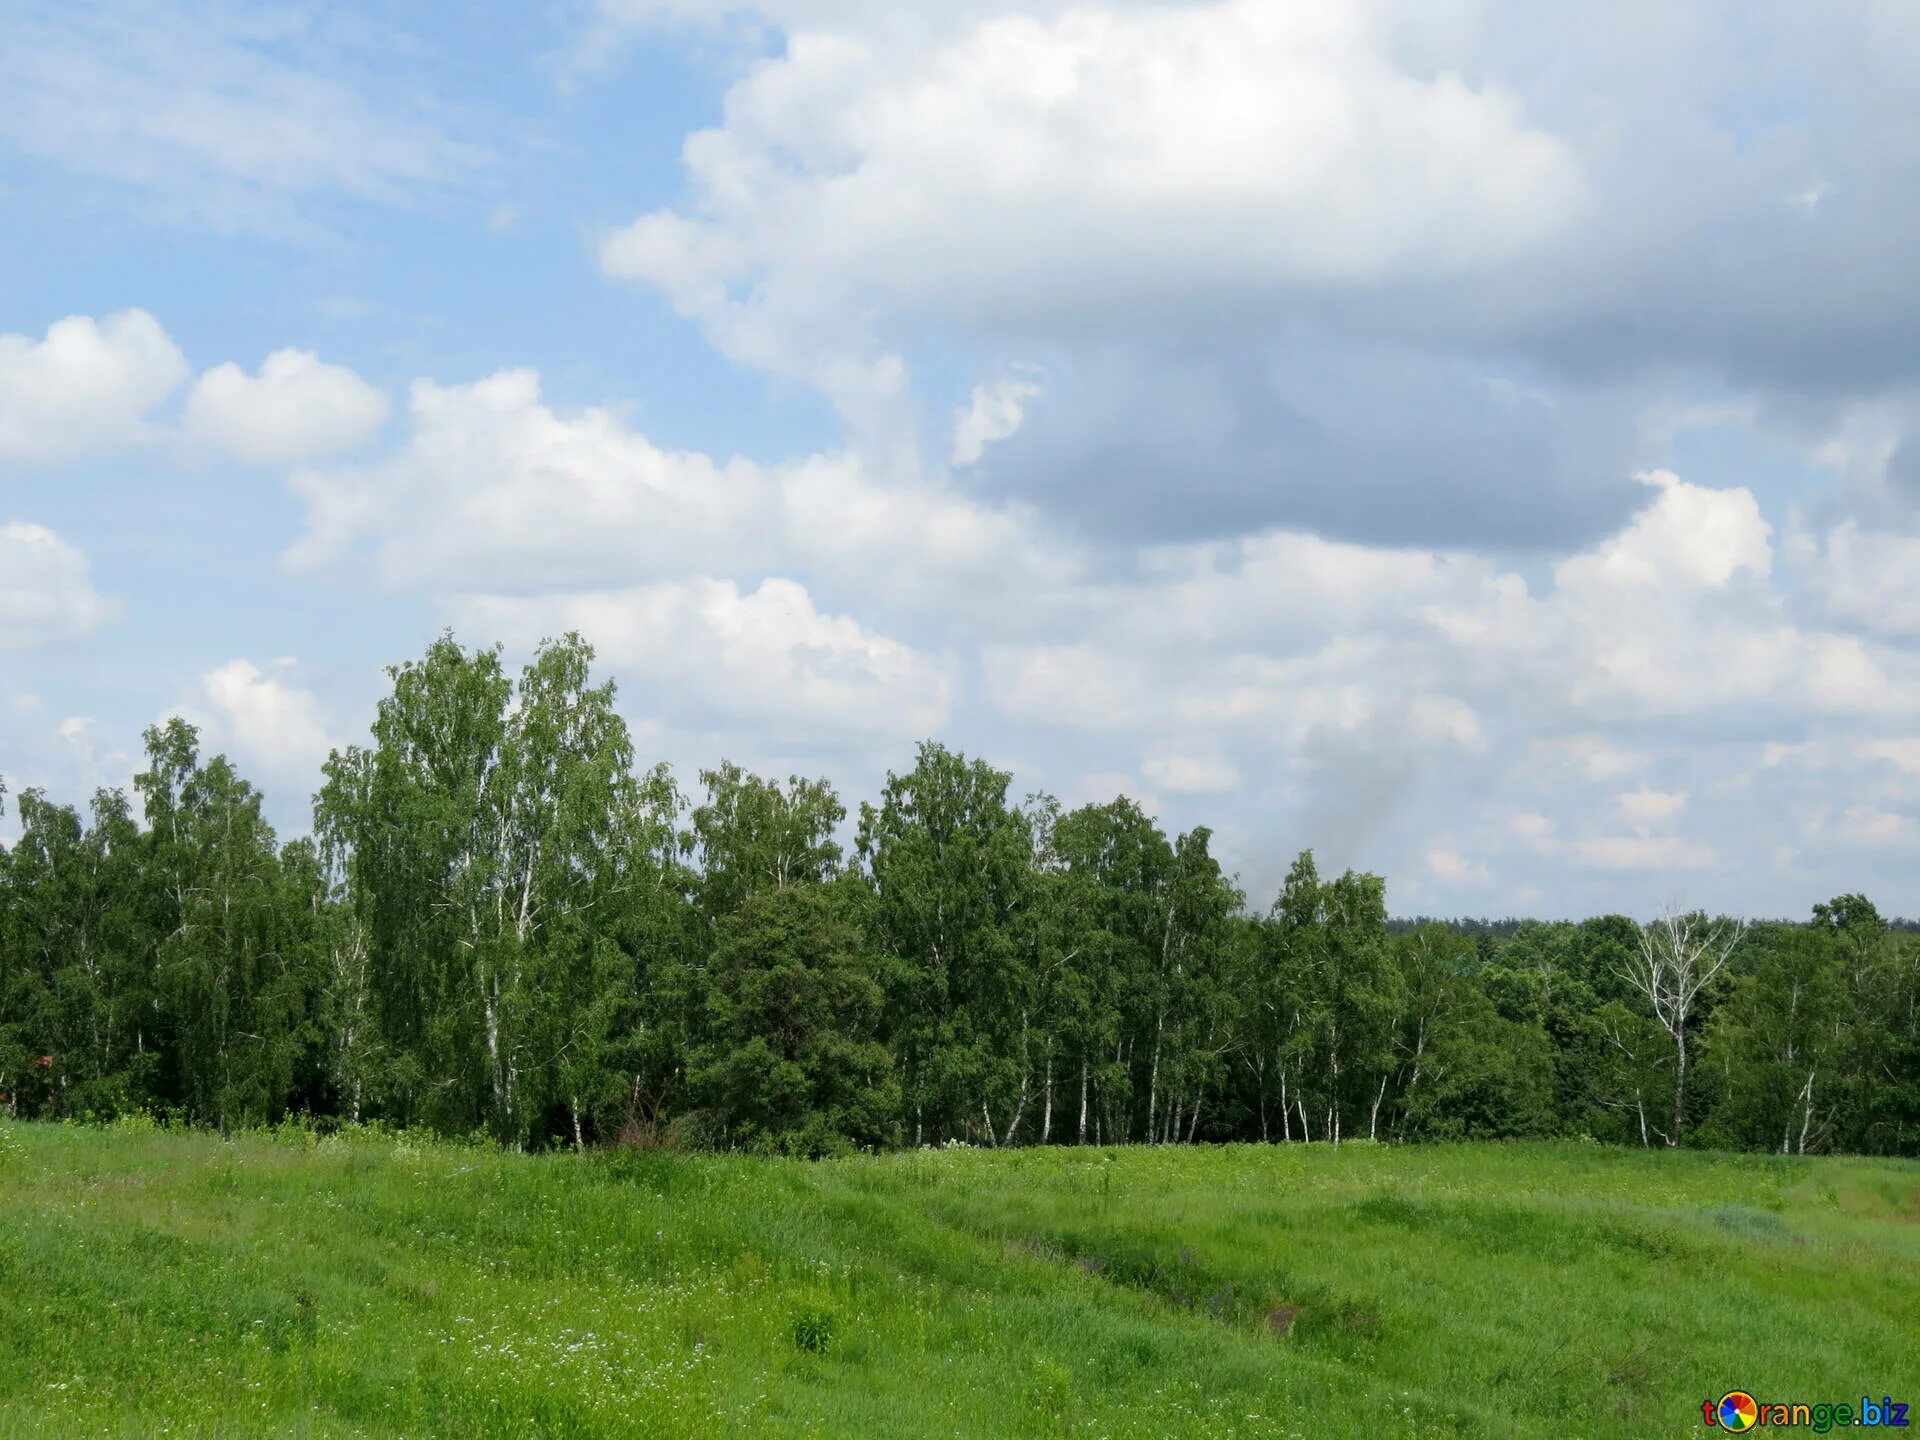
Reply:
[[[1398,914],[1920,914],[1910,0],[0,0],[0,776],[582,632]],[[12,812],[0,837],[12,831]]]

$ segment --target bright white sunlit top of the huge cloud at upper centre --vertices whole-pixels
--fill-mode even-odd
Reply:
[[[691,211],[601,259],[843,403],[879,394],[866,301],[977,321],[1453,276],[1584,204],[1509,92],[1404,67],[1382,6],[780,15],[785,54],[684,146]]]

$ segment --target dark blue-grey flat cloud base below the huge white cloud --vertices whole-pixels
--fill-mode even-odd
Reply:
[[[1340,540],[1569,549],[1645,499],[1611,396],[1469,357],[1304,340],[1108,349],[1048,372],[977,482],[1106,540],[1269,526]]]

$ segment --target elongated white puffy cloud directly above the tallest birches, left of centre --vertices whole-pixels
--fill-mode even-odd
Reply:
[[[409,422],[386,461],[294,476],[307,532],[286,553],[292,568],[357,545],[390,586],[442,591],[474,574],[555,591],[799,568],[941,612],[1031,601],[1075,570],[1018,507],[916,474],[877,478],[845,451],[764,467],[662,449],[611,409],[553,409],[534,371],[419,380]]]

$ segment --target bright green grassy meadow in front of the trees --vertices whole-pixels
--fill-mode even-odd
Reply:
[[[1920,1400],[1920,1165],[0,1121],[0,1436],[1661,1436]]]

